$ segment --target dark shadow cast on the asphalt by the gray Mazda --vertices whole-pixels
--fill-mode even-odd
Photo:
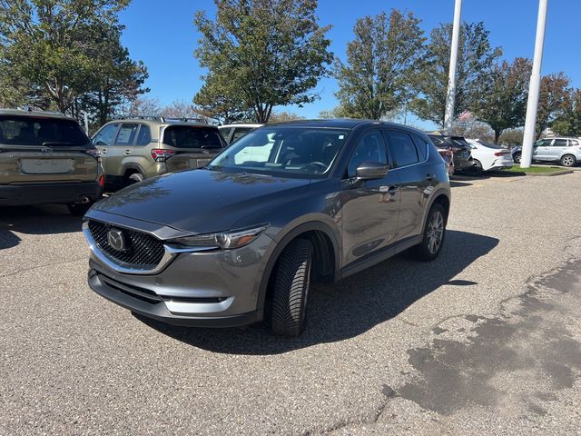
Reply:
[[[135,316],[158,332],[212,352],[268,355],[343,341],[397,316],[442,285],[458,286],[461,293],[464,286],[478,284],[454,277],[494,249],[498,240],[449,230],[446,238],[440,256],[432,263],[399,255],[333,285],[313,286],[307,328],[298,338],[273,336],[264,323],[245,330],[196,329]]]

